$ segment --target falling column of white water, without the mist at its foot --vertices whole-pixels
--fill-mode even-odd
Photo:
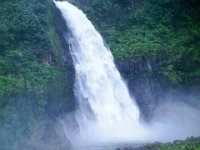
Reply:
[[[66,1],[55,3],[71,31],[68,42],[76,70],[75,92],[79,101],[76,117],[80,133],[104,139],[130,135],[130,129],[139,124],[139,109],[110,50],[81,10]]]

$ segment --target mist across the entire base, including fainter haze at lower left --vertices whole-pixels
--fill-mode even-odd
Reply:
[[[200,135],[200,107],[198,96],[191,94],[175,92],[176,96],[166,94],[163,101],[153,112],[153,118],[150,122],[143,121],[140,118],[139,126],[129,127],[126,122],[125,127],[116,124],[116,128],[104,132],[99,126],[93,126],[93,129],[80,129],[76,120],[76,111],[66,113],[56,120],[34,121],[31,119],[32,132],[21,135],[21,144],[15,149],[21,150],[68,150],[81,147],[93,147],[96,145],[119,145],[119,144],[145,144],[155,141],[171,142],[174,140],[183,140],[185,138]],[[184,99],[184,100],[183,100]],[[29,109],[33,109],[29,107]],[[18,116],[23,114],[18,114]],[[24,124],[19,120],[21,125]],[[37,123],[38,122],[38,123]],[[106,123],[105,123],[106,125]],[[92,127],[92,126],[90,126]],[[129,128],[128,128],[129,127]],[[19,126],[13,127],[20,131]],[[12,137],[12,134],[7,134]]]

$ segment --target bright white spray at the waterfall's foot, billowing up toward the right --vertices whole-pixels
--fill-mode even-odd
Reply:
[[[144,144],[155,141],[172,142],[174,140],[184,140],[187,137],[199,136],[200,109],[196,105],[196,102],[198,102],[197,97],[189,96],[186,102],[183,102],[182,99],[185,99],[183,94],[179,93],[177,95],[180,96],[168,95],[168,99],[165,98],[165,102],[156,107],[151,121],[147,123],[141,118],[139,126],[131,127],[132,124],[129,126],[129,122],[127,122],[124,128],[116,124],[115,128],[104,132],[95,123],[89,129],[80,130],[78,123],[72,119],[74,118],[72,114],[66,115],[65,118],[59,121],[66,137],[74,147],[119,143]],[[76,124],[76,127],[72,124]]]

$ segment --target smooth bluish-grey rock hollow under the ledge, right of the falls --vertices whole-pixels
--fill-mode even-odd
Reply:
[[[159,104],[163,93],[158,79],[144,74],[130,78],[128,87],[140,107],[142,118],[148,121],[151,119],[151,113]]]

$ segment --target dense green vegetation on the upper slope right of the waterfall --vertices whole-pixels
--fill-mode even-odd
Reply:
[[[116,60],[153,60],[159,64],[155,72],[168,77],[172,85],[192,86],[191,79],[200,77],[198,0],[79,0],[77,4],[101,31]]]

